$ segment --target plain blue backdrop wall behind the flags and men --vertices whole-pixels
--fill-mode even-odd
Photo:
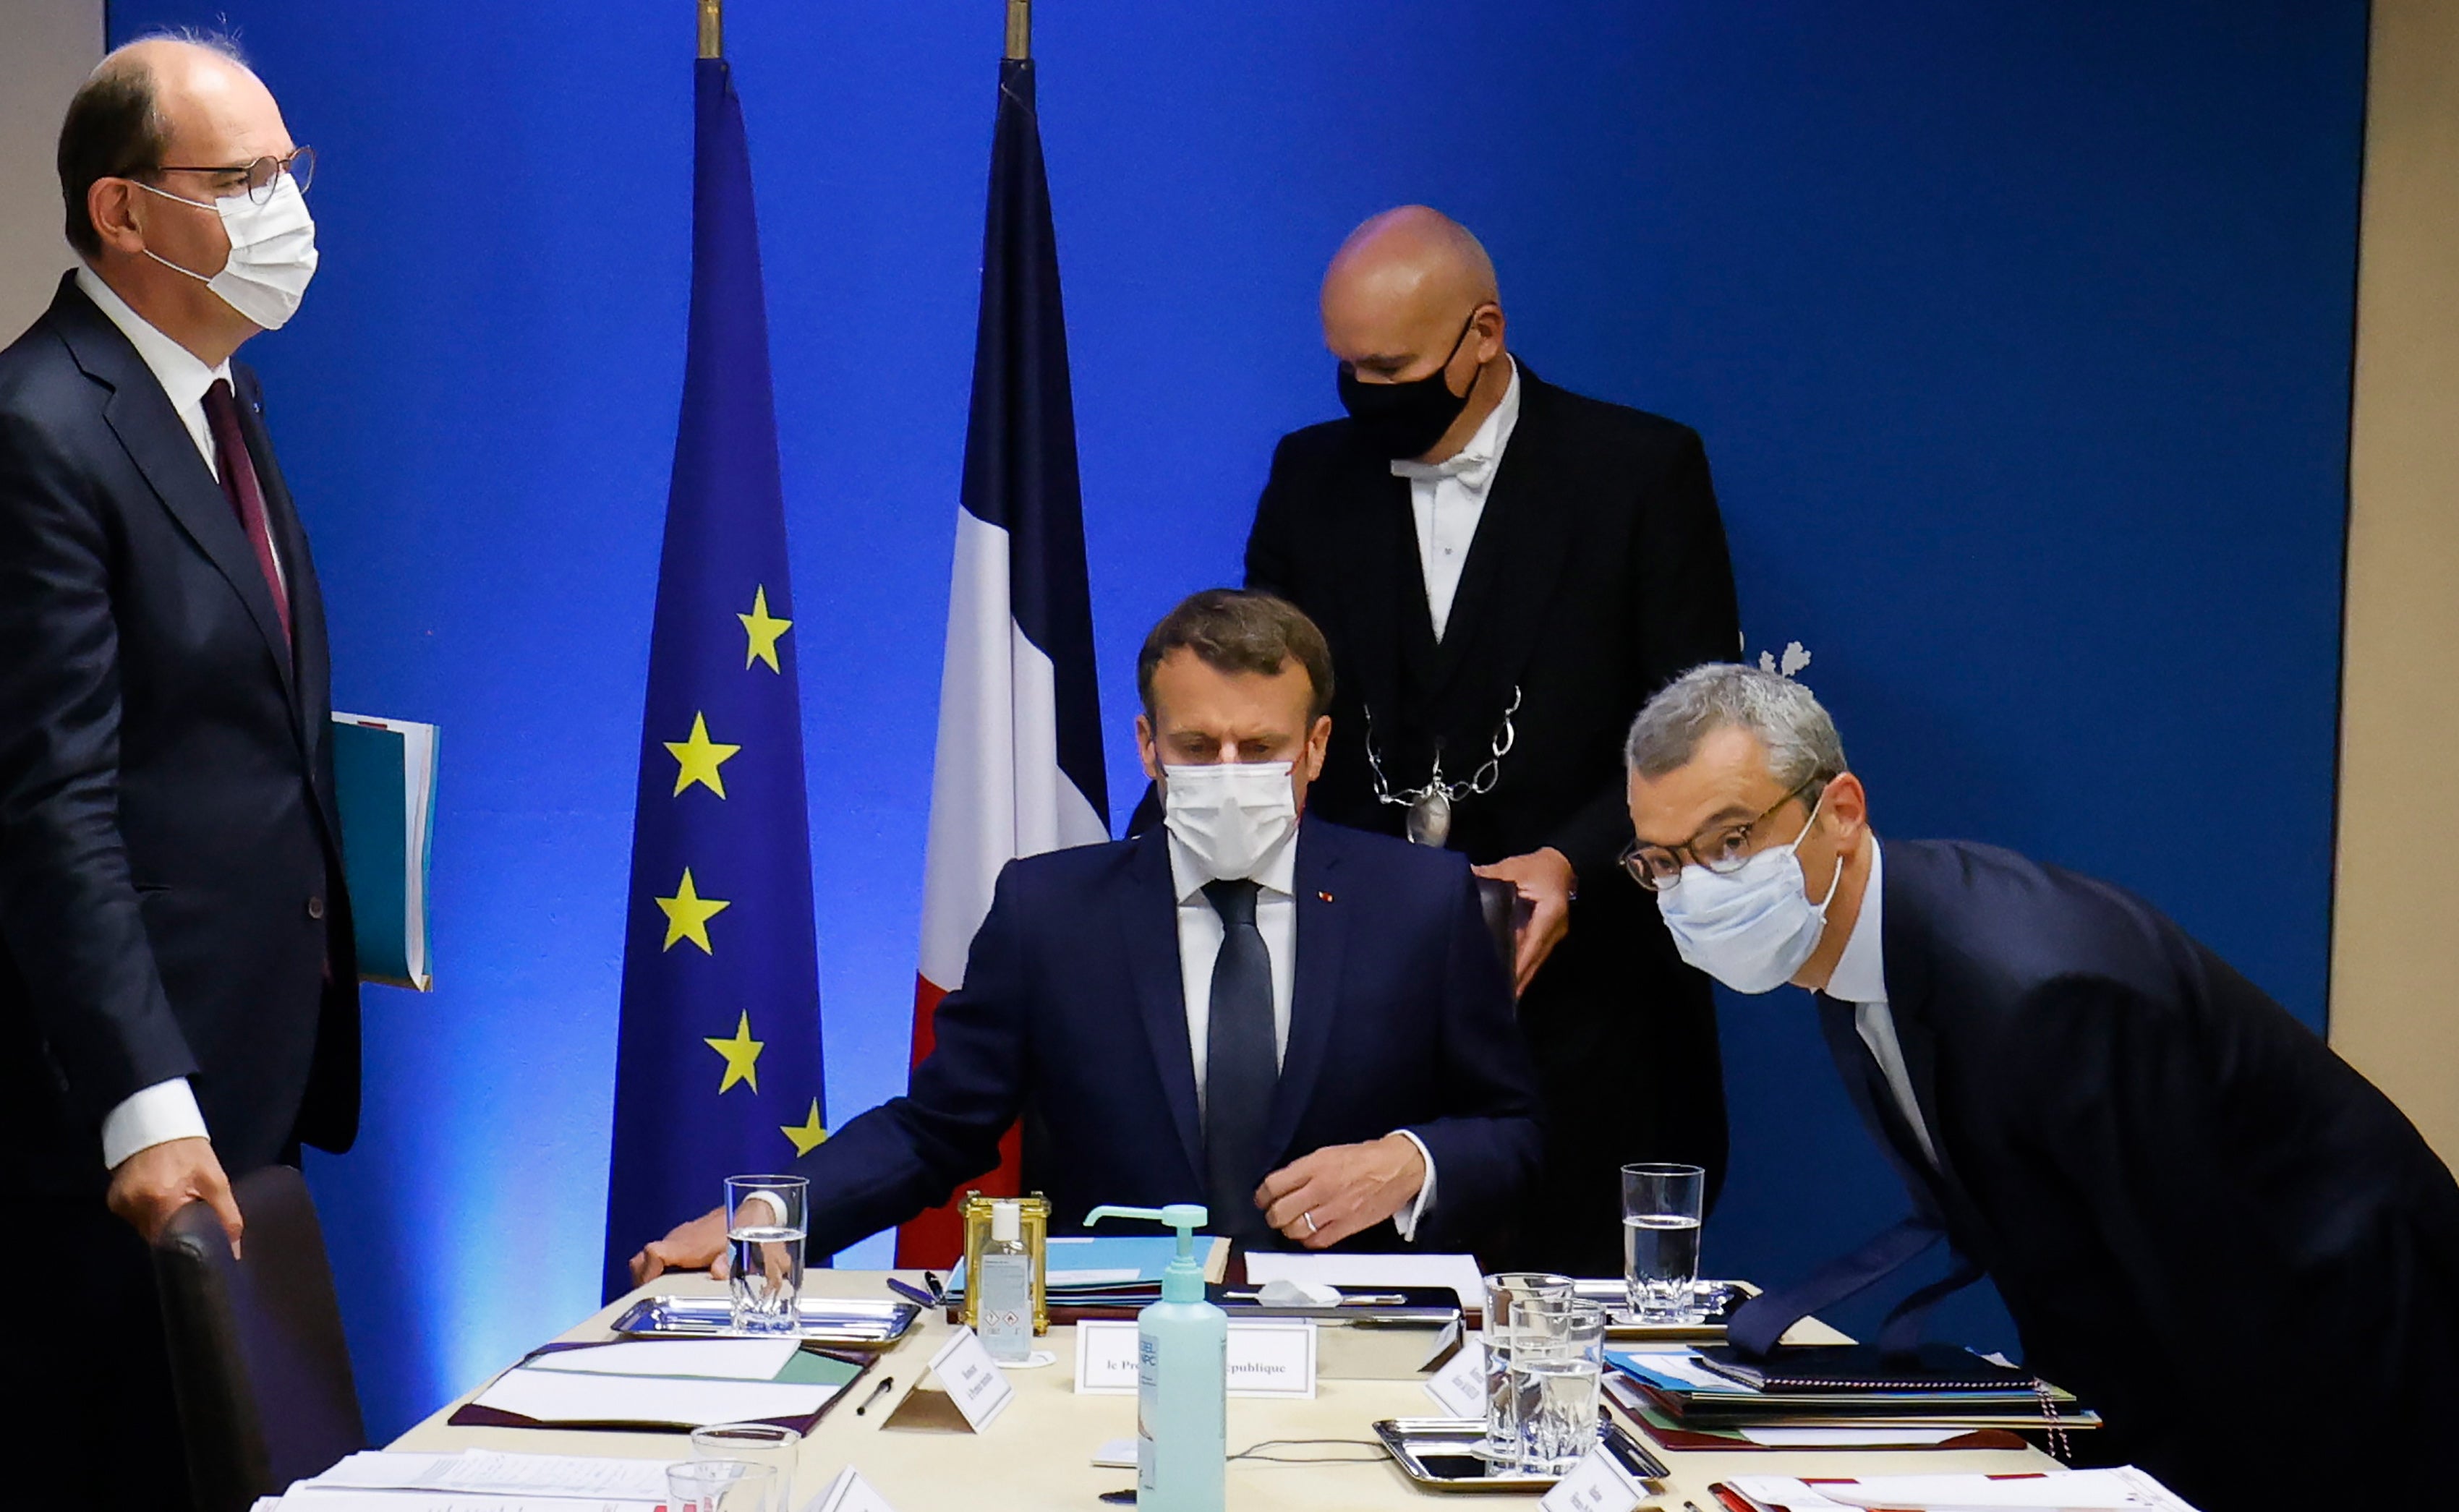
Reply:
[[[320,150],[325,268],[248,356],[334,693],[445,725],[438,991],[366,993],[366,1128],[310,1165],[391,1433],[595,1303],[691,5],[113,34],[221,15]],[[905,1074],[998,17],[728,7],[839,1119]],[[1426,199],[1539,371],[1707,435],[1751,649],[1810,647],[1884,831],[2117,878],[2321,1023],[2363,44],[2361,0],[1050,5],[1111,772],[1143,627],[1333,413],[1323,258]],[[1709,1266],[1778,1278],[1901,1197],[1805,998],[1726,1035]]]

